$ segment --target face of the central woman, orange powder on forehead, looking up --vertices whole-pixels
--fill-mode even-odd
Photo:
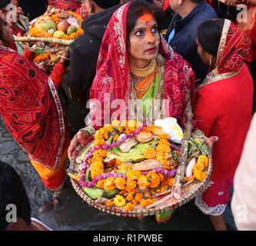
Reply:
[[[128,48],[129,62],[132,65],[151,62],[158,55],[160,35],[158,24],[151,14],[141,15],[131,30],[130,45]]]

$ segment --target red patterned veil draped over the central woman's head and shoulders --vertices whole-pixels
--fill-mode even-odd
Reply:
[[[110,101],[115,99],[125,100],[128,108],[128,100],[131,95],[131,79],[128,66],[128,48],[126,45],[126,15],[130,3],[122,5],[112,15],[101,42],[98,56],[97,73],[91,86],[91,99],[105,100],[104,95],[109,93]],[[164,91],[163,98],[169,99],[168,116],[178,118],[185,123],[185,108],[191,100],[191,91],[194,88],[194,73],[180,55],[161,37],[159,52],[165,58]],[[103,106],[102,106],[103,107]],[[94,105],[91,109],[92,119],[98,113]],[[111,115],[112,110],[110,109]],[[125,112],[128,118],[128,110]],[[105,117],[102,113],[102,118]],[[101,122],[102,124],[102,122]]]

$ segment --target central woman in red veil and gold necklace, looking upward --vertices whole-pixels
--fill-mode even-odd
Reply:
[[[148,4],[133,1],[118,8],[101,42],[88,125],[100,128],[115,118],[152,123],[169,116],[184,125],[193,91],[190,65],[161,37]],[[108,102],[120,102],[118,111],[108,109]],[[157,102],[160,107],[155,109]],[[155,110],[157,115],[153,115]],[[84,144],[92,132],[91,126],[75,135],[68,149],[69,158],[78,142]],[[163,219],[170,216],[165,214]]]

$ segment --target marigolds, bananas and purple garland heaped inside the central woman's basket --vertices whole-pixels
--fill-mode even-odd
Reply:
[[[106,207],[134,211],[171,192],[181,145],[169,141],[160,126],[112,121],[96,131],[94,138],[76,158],[80,170],[68,170],[90,198]],[[185,186],[204,181],[208,168],[208,153],[200,151],[201,141],[191,139],[190,145],[198,153],[189,157]]]

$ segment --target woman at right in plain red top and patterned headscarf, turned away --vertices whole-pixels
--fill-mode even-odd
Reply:
[[[198,27],[198,54],[211,71],[198,88],[194,119],[206,136],[218,136],[213,148],[211,187],[196,198],[216,230],[226,230],[224,210],[251,122],[253,81],[245,64],[250,38],[227,19]]]

